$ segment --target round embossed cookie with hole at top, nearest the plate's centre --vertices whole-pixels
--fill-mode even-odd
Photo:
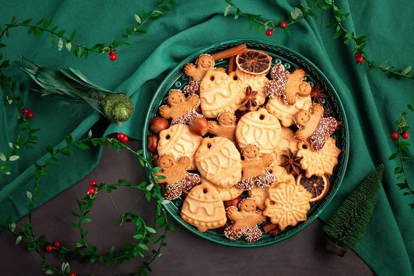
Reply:
[[[239,120],[236,139],[239,148],[255,144],[262,153],[272,153],[277,148],[282,135],[279,120],[265,108],[248,112]]]

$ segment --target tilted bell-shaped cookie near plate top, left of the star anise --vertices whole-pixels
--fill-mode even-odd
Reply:
[[[208,118],[223,111],[235,112],[245,97],[246,90],[224,72],[209,70],[200,83],[201,110]]]

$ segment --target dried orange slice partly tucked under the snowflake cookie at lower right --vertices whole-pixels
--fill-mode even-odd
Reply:
[[[296,184],[304,186],[305,190],[312,194],[309,200],[311,203],[323,199],[329,190],[329,179],[326,175],[322,177],[313,175],[311,178],[306,178],[301,174],[297,177]]]

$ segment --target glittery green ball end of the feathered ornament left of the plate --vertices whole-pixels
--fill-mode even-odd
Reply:
[[[134,105],[128,95],[124,93],[109,94],[101,99],[101,110],[109,121],[117,121],[121,124],[127,121],[132,112]]]

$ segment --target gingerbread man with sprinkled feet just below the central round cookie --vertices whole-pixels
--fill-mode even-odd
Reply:
[[[265,188],[275,183],[275,176],[266,170],[273,163],[272,154],[260,156],[257,146],[247,145],[243,148],[242,155],[242,180],[237,183],[237,188],[250,190],[255,184]]]

